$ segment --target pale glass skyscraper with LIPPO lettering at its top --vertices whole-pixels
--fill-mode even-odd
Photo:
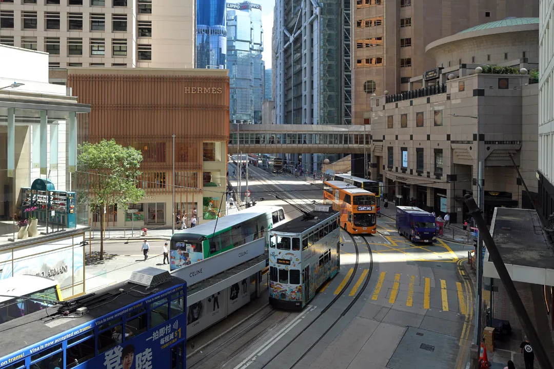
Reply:
[[[229,116],[236,123],[261,123],[264,101],[264,31],[261,6],[227,4],[227,69],[230,77]]]

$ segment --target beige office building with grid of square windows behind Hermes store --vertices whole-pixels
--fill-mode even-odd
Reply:
[[[0,44],[50,67],[192,68],[196,0],[3,0]]]

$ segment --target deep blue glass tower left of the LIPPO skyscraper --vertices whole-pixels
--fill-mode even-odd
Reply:
[[[226,54],[225,0],[197,0],[196,67],[224,68]]]

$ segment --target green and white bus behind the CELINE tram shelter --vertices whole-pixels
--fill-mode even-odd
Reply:
[[[217,227],[216,221],[211,221],[178,231],[171,237],[170,269],[182,268],[262,237],[269,247],[268,231],[284,222],[283,207],[256,205],[220,217]]]

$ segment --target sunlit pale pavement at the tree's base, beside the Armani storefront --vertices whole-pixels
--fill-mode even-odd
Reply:
[[[102,261],[100,260],[100,252],[93,251],[91,256],[88,252],[85,252],[86,293],[124,282],[137,269],[156,267],[169,271],[170,265],[163,265],[163,254],[161,253],[161,247],[159,248],[160,250],[152,250],[151,248],[146,261],[144,261],[144,256],[139,248],[137,248],[136,254],[132,255],[116,255],[104,252],[104,260]]]

